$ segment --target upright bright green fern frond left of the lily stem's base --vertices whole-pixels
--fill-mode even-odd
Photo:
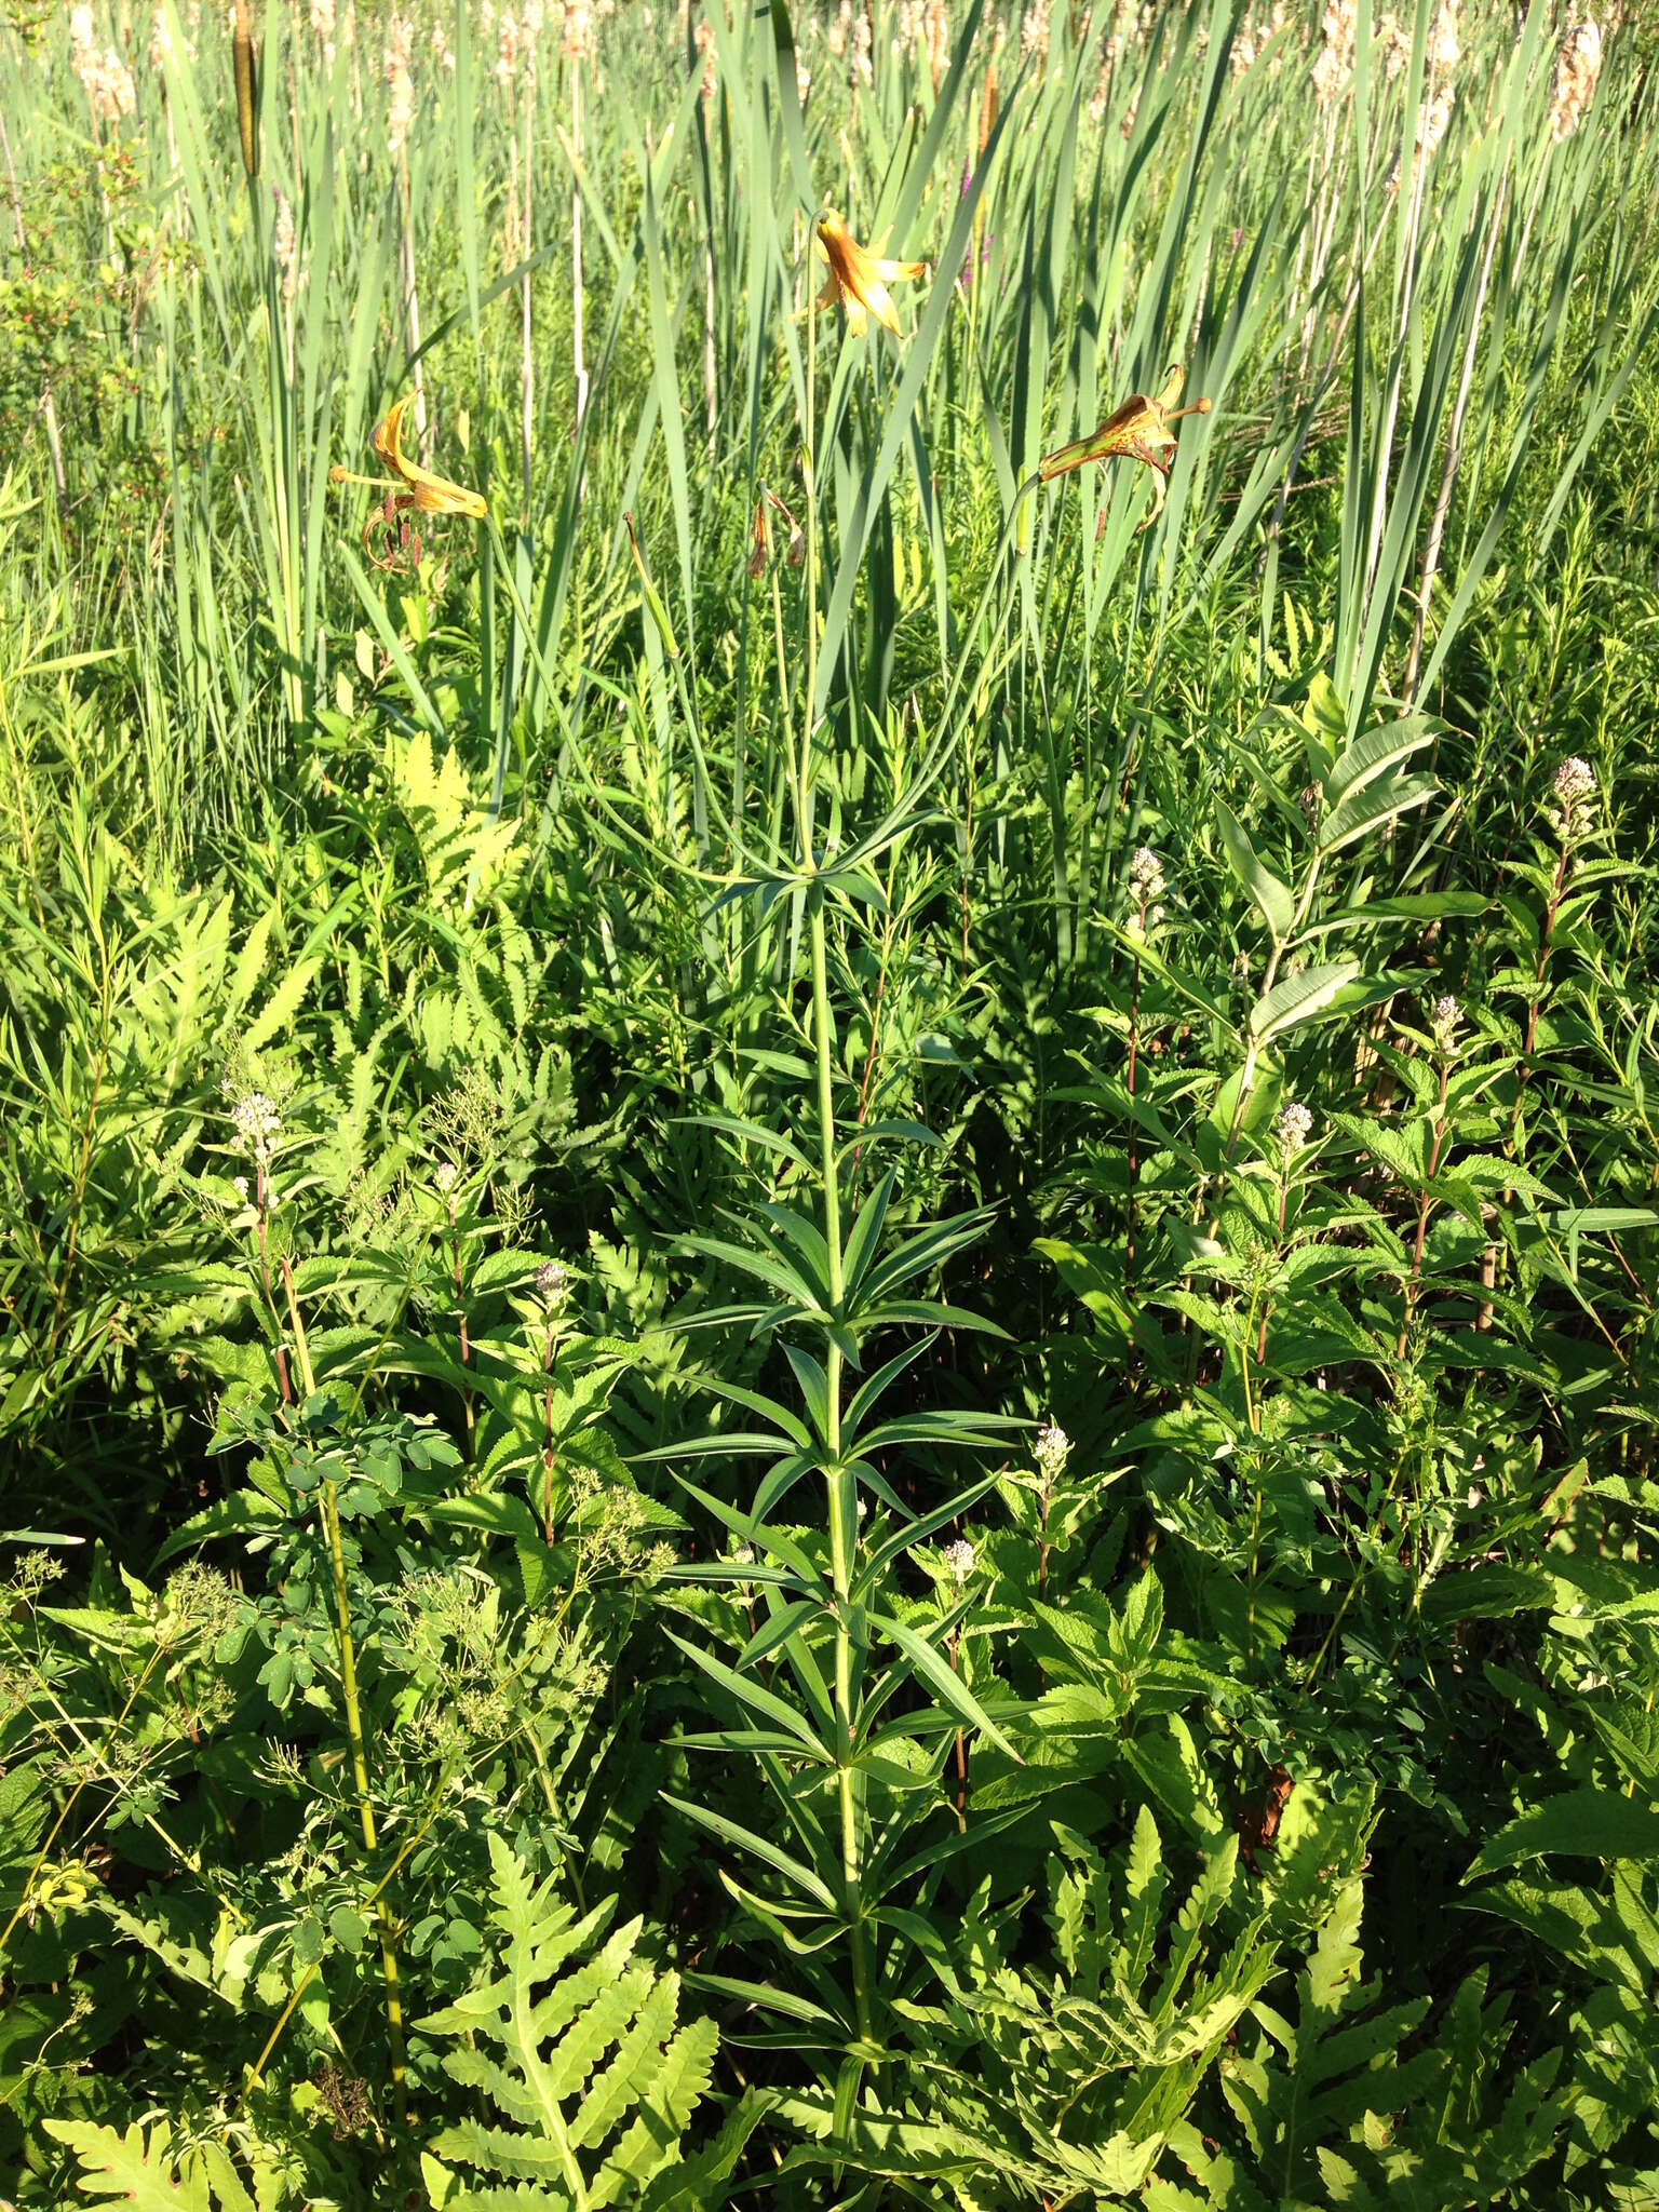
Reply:
[[[445,2068],[478,2090],[500,2124],[467,2119],[422,2161],[442,2212],[544,2205],[692,2205],[730,2172],[759,2110],[741,2108],[714,2157],[686,2161],[681,2137],[714,2062],[717,2031],[675,2026],[679,1975],[633,1962],[639,1920],[599,1944],[615,1898],[577,1918],[540,1889],[495,1836],[493,1924],[504,1936],[500,1973],[422,2026],[469,2035]],[[745,2124],[743,2124],[745,2121]],[[456,2168],[491,2177],[465,2183]],[[509,2183],[509,2185],[498,2185]]]

